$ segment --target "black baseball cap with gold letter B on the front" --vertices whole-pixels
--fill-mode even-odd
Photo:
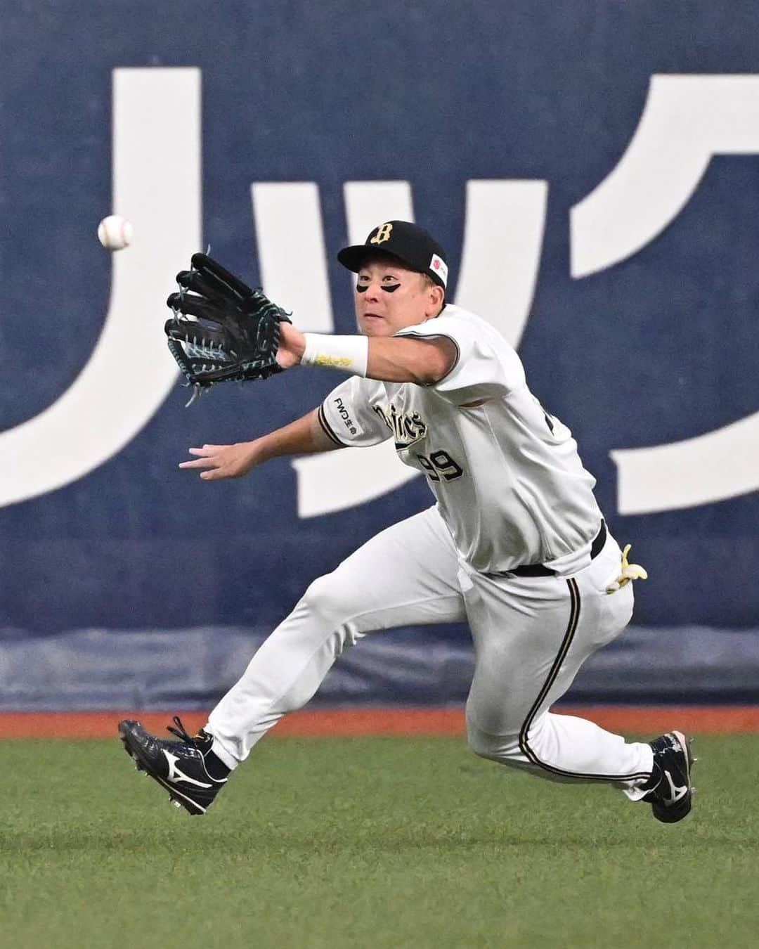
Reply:
[[[338,260],[343,267],[358,273],[364,260],[373,253],[398,257],[401,264],[417,273],[426,273],[435,283],[446,288],[448,264],[446,252],[424,228],[410,221],[385,221],[369,233],[363,244],[343,247]]]

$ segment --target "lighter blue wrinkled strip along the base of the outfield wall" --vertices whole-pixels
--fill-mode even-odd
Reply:
[[[6,630],[0,713],[207,710],[268,631],[82,629],[55,636]],[[630,626],[583,664],[564,702],[604,705],[753,704],[755,630]],[[390,630],[347,649],[311,707],[457,705],[472,681],[466,630]]]

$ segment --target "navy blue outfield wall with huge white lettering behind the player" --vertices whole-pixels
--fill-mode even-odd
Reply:
[[[162,334],[209,244],[350,332],[335,251],[412,215],[650,574],[571,697],[759,701],[754,2],[59,0],[9,10],[0,53],[0,708],[205,707],[312,579],[430,503],[374,449],[178,471],[340,377],[185,409]],[[111,211],[135,227],[113,256]],[[316,700],[460,701],[471,671],[464,627],[399,630]]]

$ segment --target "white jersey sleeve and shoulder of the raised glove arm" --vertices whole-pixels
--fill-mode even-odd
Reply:
[[[444,399],[455,404],[506,396],[525,384],[525,370],[514,349],[490,324],[458,310],[434,320],[407,326],[396,336],[430,339],[445,336],[456,348],[456,360],[441,380],[433,383]]]

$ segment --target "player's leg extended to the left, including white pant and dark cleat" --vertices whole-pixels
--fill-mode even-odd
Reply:
[[[305,705],[345,646],[376,629],[464,618],[453,542],[433,508],[383,530],[314,581],[197,735],[178,718],[170,730],[179,741],[124,720],[121,739],[177,806],[205,813],[231,769],[283,715]]]

